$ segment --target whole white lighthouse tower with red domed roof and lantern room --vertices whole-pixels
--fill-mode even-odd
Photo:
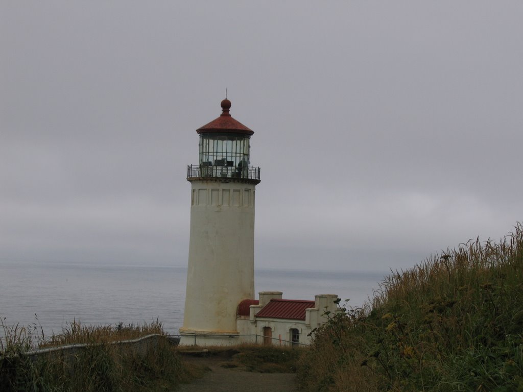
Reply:
[[[254,298],[254,194],[259,167],[251,166],[254,132],[229,114],[196,130],[198,165],[191,183],[189,263],[181,345],[237,343],[236,310]]]

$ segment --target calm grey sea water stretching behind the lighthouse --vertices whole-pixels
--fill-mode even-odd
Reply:
[[[46,335],[73,320],[127,325],[158,319],[176,335],[183,324],[186,273],[181,267],[0,262],[0,317],[6,326],[37,327]],[[255,292],[282,291],[288,299],[338,294],[359,306],[384,274],[257,270]]]

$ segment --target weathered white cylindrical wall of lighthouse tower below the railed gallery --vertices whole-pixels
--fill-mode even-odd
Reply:
[[[238,333],[236,307],[254,298],[254,194],[253,184],[191,181],[182,335]],[[182,337],[180,344],[194,339]]]

